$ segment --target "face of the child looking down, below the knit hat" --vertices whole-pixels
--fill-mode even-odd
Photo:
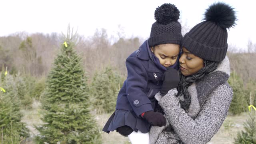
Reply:
[[[159,59],[160,64],[167,68],[175,64],[180,52],[180,45],[159,44],[157,46],[151,47],[150,49]]]

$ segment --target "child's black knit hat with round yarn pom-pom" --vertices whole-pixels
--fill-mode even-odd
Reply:
[[[180,11],[173,4],[163,4],[156,8],[156,22],[152,24],[148,39],[150,47],[168,43],[181,44],[181,25],[177,21],[179,16]]]

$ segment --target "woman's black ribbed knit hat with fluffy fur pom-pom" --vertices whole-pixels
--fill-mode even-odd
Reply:
[[[209,61],[222,61],[228,50],[227,28],[236,25],[234,8],[223,2],[214,3],[204,13],[203,22],[194,26],[182,39],[192,54]]]

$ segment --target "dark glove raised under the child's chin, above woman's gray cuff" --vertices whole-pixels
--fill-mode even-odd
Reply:
[[[180,76],[178,71],[174,68],[166,68],[167,70],[164,72],[162,76],[163,85],[160,90],[162,96],[166,95],[169,90],[176,88],[180,82]]]

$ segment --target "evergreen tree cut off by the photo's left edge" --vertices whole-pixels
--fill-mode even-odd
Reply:
[[[0,82],[1,83],[1,82]],[[4,77],[5,93],[0,92],[0,129],[2,144],[19,144],[29,136],[28,129],[21,121],[20,99],[12,75]]]

